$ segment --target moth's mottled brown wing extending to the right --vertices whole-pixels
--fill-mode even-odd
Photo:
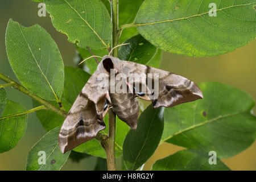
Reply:
[[[121,63],[120,63],[121,62]],[[153,93],[145,93],[142,96],[138,95],[139,98],[143,100],[151,101],[154,107],[172,107],[184,102],[195,101],[197,99],[203,98],[203,94],[199,86],[197,86],[193,81],[189,80],[180,75],[163,71],[161,69],[156,69],[148,67],[147,65],[138,64],[130,61],[121,61],[114,58],[114,65],[118,65],[118,69],[127,76],[129,73],[137,73],[141,76],[141,80],[134,80],[134,82],[140,82],[141,85],[147,85],[148,73],[152,75],[158,73],[159,75],[159,96],[158,98],[151,100],[149,97]],[[154,82],[154,77],[151,78]],[[133,82],[129,84],[133,85]]]

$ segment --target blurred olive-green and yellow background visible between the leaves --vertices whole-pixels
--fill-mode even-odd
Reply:
[[[45,28],[57,43],[65,65],[75,66],[75,46],[67,41],[64,34],[57,32],[52,26],[49,15],[38,16],[38,3],[30,0],[7,0],[0,3],[0,72],[18,81],[11,70],[5,50],[5,31],[10,18],[18,21],[22,26],[29,27],[33,24],[40,24]],[[204,81],[218,81],[235,86],[249,93],[256,100],[256,41],[225,55],[195,58],[172,53],[163,53],[160,68],[187,77],[196,83]],[[0,81],[0,84],[3,82]],[[8,98],[19,102],[27,109],[32,108],[31,98],[27,97],[12,88],[7,88]],[[254,107],[254,113],[256,109]],[[241,121],[242,122],[242,121]],[[44,135],[46,131],[36,118],[35,113],[28,117],[26,134],[13,150],[0,154],[0,170],[24,170],[26,169],[27,154],[30,148]],[[1,143],[0,143],[1,144]],[[182,149],[172,144],[162,144],[155,154],[146,163],[144,169],[150,169],[156,159],[164,158],[167,155]],[[89,157],[81,160],[80,163],[68,162],[63,170],[92,170],[96,164],[96,158]],[[247,150],[234,156],[224,159],[233,170],[256,170],[256,142]]]

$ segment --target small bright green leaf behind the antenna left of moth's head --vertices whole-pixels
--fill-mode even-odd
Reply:
[[[84,49],[81,47],[76,46],[77,51],[80,53],[82,59],[86,59],[90,56],[92,56],[92,54],[88,51],[88,49]],[[101,49],[101,50],[92,50],[93,54],[96,56],[105,56],[105,55],[109,55],[108,51],[106,49]],[[101,61],[100,58],[97,58],[98,61]],[[94,58],[90,58],[88,60],[85,61],[85,64],[88,66],[88,68],[90,69],[90,73],[94,73],[94,71],[96,71],[98,64],[96,63],[96,61],[94,60]]]

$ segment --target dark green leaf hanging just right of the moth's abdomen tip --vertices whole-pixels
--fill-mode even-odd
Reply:
[[[154,154],[161,140],[164,108],[149,105],[138,119],[137,130],[130,130],[123,142],[123,162],[128,170],[141,167]]]

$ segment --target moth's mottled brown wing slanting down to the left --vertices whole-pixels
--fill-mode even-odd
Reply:
[[[97,92],[98,74],[98,71],[94,72],[82,88],[61,126],[59,146],[63,153],[93,139],[106,127],[103,118],[108,112],[110,101],[108,93]],[[109,102],[107,107],[105,107],[106,98]]]

